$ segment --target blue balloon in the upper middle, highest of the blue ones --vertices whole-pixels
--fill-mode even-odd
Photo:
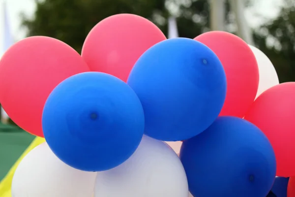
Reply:
[[[189,38],[162,41],[132,69],[128,85],[145,111],[145,134],[163,141],[191,138],[216,119],[226,95],[217,56]]]

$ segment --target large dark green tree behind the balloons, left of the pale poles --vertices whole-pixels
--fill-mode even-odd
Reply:
[[[171,14],[167,7],[177,10],[181,37],[193,38],[209,27],[207,0],[36,0],[36,5],[34,17],[23,19],[28,35],[57,38],[78,52],[94,25],[118,13],[148,18],[166,35],[167,18]]]

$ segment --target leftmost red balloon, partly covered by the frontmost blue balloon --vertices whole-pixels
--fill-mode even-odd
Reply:
[[[67,44],[45,36],[25,38],[0,60],[0,103],[22,129],[43,137],[42,111],[51,91],[89,67]]]

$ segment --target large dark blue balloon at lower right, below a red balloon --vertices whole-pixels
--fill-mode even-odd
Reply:
[[[266,197],[275,179],[274,151],[255,125],[219,117],[185,140],[180,160],[195,197]]]

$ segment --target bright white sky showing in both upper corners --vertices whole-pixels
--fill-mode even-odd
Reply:
[[[0,0],[0,27],[2,28],[3,2]],[[21,29],[20,14],[24,13],[32,17],[36,8],[34,0],[6,0],[8,18],[12,36],[15,40],[20,40],[26,36],[25,29]],[[250,27],[255,28],[265,22],[266,19],[273,18],[278,14],[279,5],[282,0],[254,0],[254,6],[245,11],[246,19]],[[1,29],[0,29],[1,30]],[[2,40],[2,30],[0,40]],[[0,41],[0,46],[1,46]]]

